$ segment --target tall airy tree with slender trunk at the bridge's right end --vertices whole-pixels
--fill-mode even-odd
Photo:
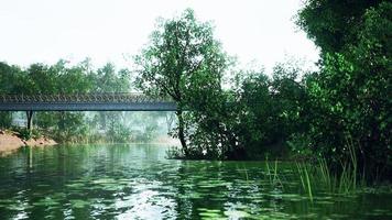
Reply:
[[[184,110],[195,103],[195,94],[220,86],[228,64],[214,38],[211,24],[196,21],[192,10],[179,18],[161,20],[150,44],[135,56],[135,64],[139,89],[150,96],[170,97],[177,103],[177,135],[187,155]]]

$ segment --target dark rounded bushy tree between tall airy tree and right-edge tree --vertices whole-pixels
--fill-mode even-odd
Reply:
[[[241,72],[235,111],[239,144],[250,157],[265,154],[282,156],[287,153],[291,136],[304,130],[302,114],[306,102],[304,85],[298,80],[302,69],[293,62],[277,64],[272,77],[263,70]]]

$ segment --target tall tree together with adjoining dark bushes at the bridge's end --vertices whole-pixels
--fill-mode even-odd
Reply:
[[[298,68],[277,65],[269,78],[262,72],[236,73],[231,61],[211,24],[196,21],[192,10],[161,20],[150,45],[135,57],[138,88],[168,96],[178,106],[173,134],[182,152],[172,154],[221,160],[279,155],[294,130],[302,130],[298,103],[305,92]],[[230,89],[222,87],[226,75],[236,75]]]

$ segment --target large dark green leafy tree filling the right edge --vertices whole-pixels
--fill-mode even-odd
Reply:
[[[381,0],[309,0],[300,11],[322,48],[320,72],[306,80],[313,150],[336,168],[353,148],[372,179],[392,177],[391,14]]]

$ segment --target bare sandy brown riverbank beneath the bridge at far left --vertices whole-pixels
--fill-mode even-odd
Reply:
[[[39,139],[23,140],[18,132],[10,130],[0,130],[0,154],[15,151],[22,146],[53,146],[57,143],[46,136]]]

